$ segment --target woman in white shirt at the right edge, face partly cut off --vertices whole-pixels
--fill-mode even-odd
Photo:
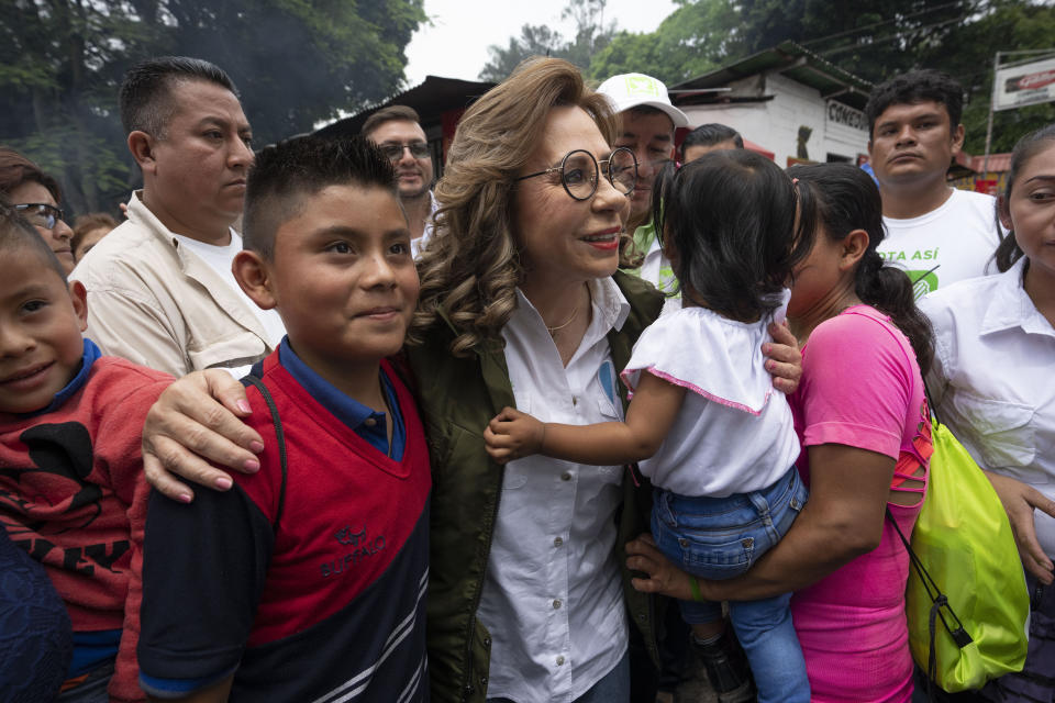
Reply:
[[[1055,125],[1014,147],[998,215],[1009,230],[996,255],[1002,274],[920,302],[935,335],[928,387],[939,417],[1000,494],[1032,598],[1025,670],[985,694],[1047,701],[1055,692]]]

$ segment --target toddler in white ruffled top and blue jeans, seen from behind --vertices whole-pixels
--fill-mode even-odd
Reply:
[[[622,380],[625,422],[541,423],[511,408],[485,438],[499,462],[543,454],[580,464],[640,461],[656,487],[653,539],[693,576],[746,571],[790,528],[807,491],[791,410],[774,392],[763,343],[781,322],[792,267],[812,245],[795,188],[773,161],[714,152],[660,178],[656,232],[681,290],[682,309],[641,335]],[[806,663],[788,610],[790,593],[730,603],[758,701],[808,702]],[[681,601],[698,635],[721,604]]]

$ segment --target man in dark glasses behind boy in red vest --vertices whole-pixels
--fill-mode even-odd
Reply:
[[[432,152],[413,108],[389,105],[363,123],[360,134],[380,147],[399,179],[399,200],[410,222],[410,247],[414,258],[432,235],[436,199],[432,194]]]

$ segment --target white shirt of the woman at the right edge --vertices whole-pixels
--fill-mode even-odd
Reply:
[[[1024,260],[920,301],[935,336],[928,388],[981,468],[1055,499],[1055,328],[1022,288]],[[1035,511],[1035,521],[1055,557],[1055,520]]]

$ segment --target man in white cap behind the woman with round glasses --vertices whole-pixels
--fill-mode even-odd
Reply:
[[[637,181],[626,221],[626,231],[633,233],[634,245],[644,255],[635,272],[662,291],[673,290],[674,271],[652,224],[652,188],[663,167],[674,159],[675,129],[688,126],[689,119],[670,103],[667,87],[652,76],[612,76],[597,91],[608,98],[622,120],[612,146],[626,147],[637,157]],[[680,295],[668,298],[663,311],[680,306]]]

